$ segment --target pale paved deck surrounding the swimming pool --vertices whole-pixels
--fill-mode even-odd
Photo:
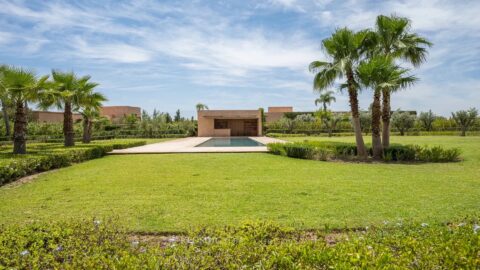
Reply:
[[[268,152],[266,146],[241,147],[195,147],[212,137],[189,137],[172,141],[153,143],[121,150],[113,150],[110,154],[169,154],[169,153],[252,153]],[[262,144],[285,141],[270,137],[248,137]]]

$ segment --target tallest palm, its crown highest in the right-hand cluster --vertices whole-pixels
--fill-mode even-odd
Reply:
[[[377,17],[375,33],[372,35],[372,54],[381,54],[394,59],[403,59],[414,67],[420,66],[427,57],[427,48],[432,43],[416,33],[410,32],[408,18],[380,15]],[[390,91],[382,90],[383,146],[390,145]]]

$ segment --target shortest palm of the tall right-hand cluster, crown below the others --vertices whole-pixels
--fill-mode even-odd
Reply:
[[[359,81],[365,87],[373,90],[372,103],[372,146],[373,158],[383,157],[383,145],[380,135],[380,118],[382,115],[380,97],[382,91],[396,91],[406,88],[417,81],[414,76],[406,76],[408,69],[401,68],[393,63],[393,59],[384,56],[375,56],[363,61],[357,69]]]

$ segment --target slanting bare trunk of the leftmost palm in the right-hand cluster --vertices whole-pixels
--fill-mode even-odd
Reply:
[[[352,111],[353,129],[355,132],[355,141],[357,144],[357,155],[363,159],[367,158],[367,150],[362,137],[362,128],[360,125],[360,114],[358,108],[358,93],[355,89],[353,72],[347,73],[348,96],[350,101],[350,110]]]

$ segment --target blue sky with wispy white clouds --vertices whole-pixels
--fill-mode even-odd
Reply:
[[[409,17],[429,38],[421,81],[393,108],[449,115],[480,104],[480,1],[2,1],[0,63],[38,73],[90,74],[109,105],[211,109],[291,105],[313,110],[313,60],[337,27],[373,27],[378,14]],[[360,96],[362,108],[371,92]],[[337,95],[334,110],[347,110]]]

